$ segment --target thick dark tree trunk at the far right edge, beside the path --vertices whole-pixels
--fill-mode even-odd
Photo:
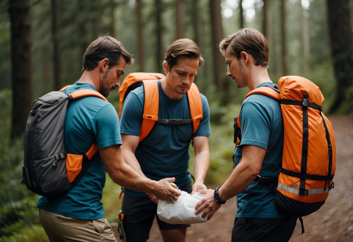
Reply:
[[[348,0],[327,0],[332,61],[337,80],[336,97],[330,112],[339,109],[353,110],[353,33]],[[351,95],[347,95],[351,91]],[[350,98],[350,100],[348,99]]]

